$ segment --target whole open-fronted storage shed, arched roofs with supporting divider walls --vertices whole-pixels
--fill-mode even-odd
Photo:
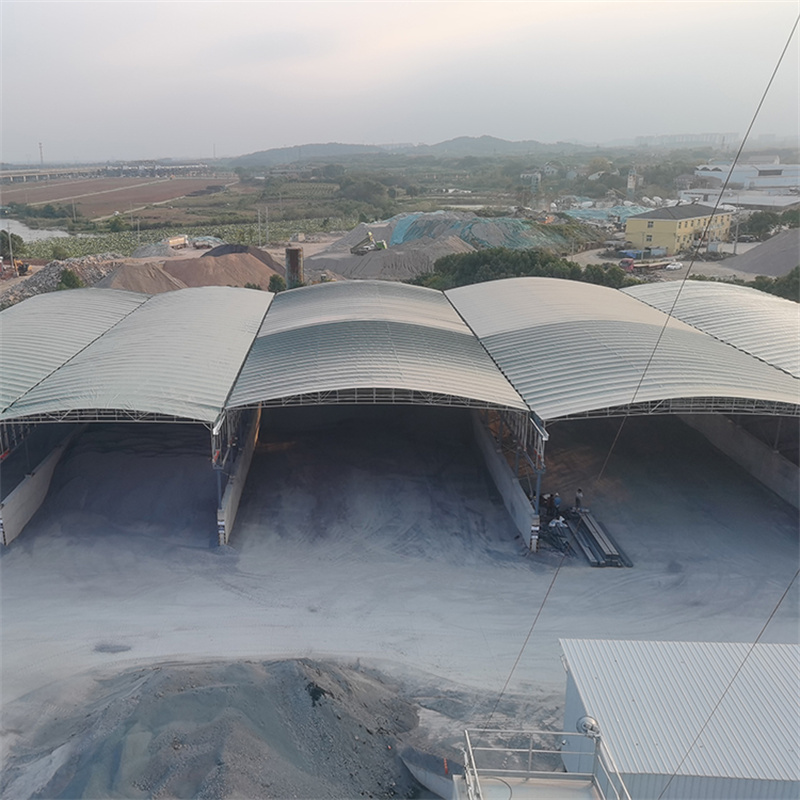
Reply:
[[[796,504],[796,471],[774,453],[780,447],[726,426],[759,417],[780,428],[800,416],[797,304],[694,284],[669,317],[670,291],[516,278],[447,292],[353,281],[279,295],[230,287],[40,295],[0,314],[2,451],[42,423],[203,425],[225,543],[262,409],[470,408],[526,536],[538,524],[549,423],[679,414],[740,463],[758,462],[754,474]],[[775,442],[789,436],[796,447],[796,427]],[[495,463],[502,448],[505,461]],[[43,501],[59,455],[6,485],[5,544]]]

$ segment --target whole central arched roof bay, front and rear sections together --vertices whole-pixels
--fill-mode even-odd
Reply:
[[[441,292],[381,281],[278,295],[229,406],[369,388],[527,410]]]

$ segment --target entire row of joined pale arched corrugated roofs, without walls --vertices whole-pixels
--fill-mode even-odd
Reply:
[[[748,296],[746,308],[760,299]],[[759,313],[751,343],[796,344],[789,322]],[[330,402],[495,406],[543,420],[800,415],[800,380],[778,368],[784,356],[667,320],[630,293],[551,278],[446,293],[348,281],[274,300],[228,287],[72,290],[0,313],[0,421],[150,415],[213,425],[226,408]],[[778,333],[758,339],[759,325]]]

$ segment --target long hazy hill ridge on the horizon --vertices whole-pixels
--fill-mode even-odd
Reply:
[[[257,153],[239,156],[231,160],[231,167],[276,167],[282,164],[298,164],[320,159],[343,159],[350,156],[375,155],[380,153],[406,153],[409,155],[434,155],[443,158],[465,158],[467,156],[547,156],[548,154],[577,153],[592,148],[572,142],[544,144],[533,139],[523,142],[509,142],[495,136],[459,136],[438,144],[417,144],[407,146],[379,146],[361,144],[304,144],[295,147],[278,147],[272,150],[259,150]]]

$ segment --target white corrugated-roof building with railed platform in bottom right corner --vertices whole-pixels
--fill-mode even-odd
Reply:
[[[561,648],[563,731],[467,731],[456,800],[798,796],[797,645],[565,639]]]

